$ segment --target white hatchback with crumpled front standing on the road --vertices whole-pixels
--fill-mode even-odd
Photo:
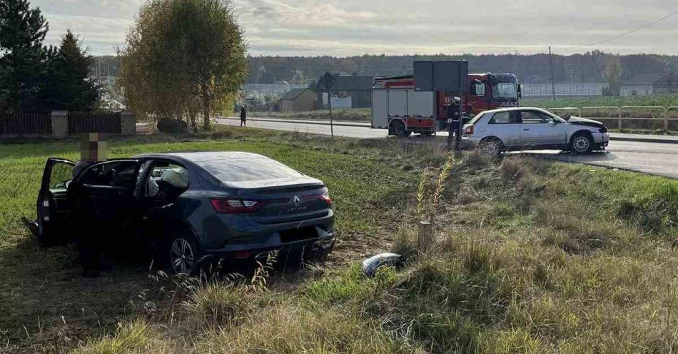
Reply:
[[[502,108],[479,113],[462,131],[462,146],[489,154],[557,149],[572,153],[604,150],[609,133],[587,118],[567,120],[541,108]]]

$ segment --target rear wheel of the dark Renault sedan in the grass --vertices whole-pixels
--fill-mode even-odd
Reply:
[[[195,275],[201,268],[202,251],[188,231],[175,233],[166,252],[168,268],[173,274]]]

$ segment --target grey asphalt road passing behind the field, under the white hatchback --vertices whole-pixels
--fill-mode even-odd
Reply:
[[[239,126],[239,119],[217,119],[219,124]],[[334,126],[335,136],[349,138],[385,138],[387,132],[383,129],[372,129],[369,123],[358,123],[360,126]],[[298,131],[330,135],[330,126],[318,121],[256,121],[248,119],[248,126],[279,131]],[[447,137],[447,133],[440,133]],[[443,138],[440,139],[441,142]],[[597,166],[619,168],[630,171],[639,171],[670,178],[678,178],[678,143],[651,143],[639,141],[610,141],[607,151],[590,155],[571,155],[560,151],[540,150],[524,152],[544,158],[554,158],[559,161],[589,163]]]

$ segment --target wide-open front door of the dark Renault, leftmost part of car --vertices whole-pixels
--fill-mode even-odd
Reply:
[[[38,220],[33,229],[38,241],[54,246],[70,241],[64,232],[71,223],[71,206],[66,191],[73,179],[76,163],[64,158],[49,158],[42,174],[36,203]]]

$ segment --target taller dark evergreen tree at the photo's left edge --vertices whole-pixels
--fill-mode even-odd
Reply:
[[[32,111],[46,74],[47,22],[28,0],[0,0],[0,111]]]

